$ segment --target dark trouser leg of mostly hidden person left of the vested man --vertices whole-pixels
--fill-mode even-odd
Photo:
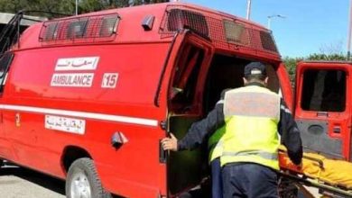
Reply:
[[[222,177],[220,157],[214,159],[210,163],[211,167],[211,197],[222,198]]]

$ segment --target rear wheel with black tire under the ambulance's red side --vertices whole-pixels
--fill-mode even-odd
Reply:
[[[69,166],[66,178],[66,197],[68,198],[111,198],[107,193],[92,159],[79,158]]]

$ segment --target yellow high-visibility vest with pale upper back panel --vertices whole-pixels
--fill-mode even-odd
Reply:
[[[277,149],[280,96],[260,86],[245,86],[225,94],[227,137],[221,165],[252,162],[279,169]]]

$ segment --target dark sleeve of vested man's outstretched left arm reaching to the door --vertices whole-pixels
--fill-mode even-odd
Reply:
[[[220,100],[205,119],[194,122],[187,134],[179,140],[178,149],[198,148],[208,135],[222,127],[225,124],[223,107],[223,100]]]

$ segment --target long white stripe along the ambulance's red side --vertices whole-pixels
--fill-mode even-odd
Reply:
[[[147,126],[153,126],[153,127],[158,126],[158,121],[156,120],[112,115],[112,114],[103,114],[103,113],[96,113],[96,112],[76,112],[76,111],[67,111],[67,110],[60,110],[60,109],[49,109],[49,108],[42,108],[42,107],[9,105],[9,104],[0,104],[0,109],[21,111],[21,112],[39,112],[44,114],[66,115],[70,117],[97,119],[102,121],[118,121],[118,122],[141,124],[141,125],[147,125]]]

